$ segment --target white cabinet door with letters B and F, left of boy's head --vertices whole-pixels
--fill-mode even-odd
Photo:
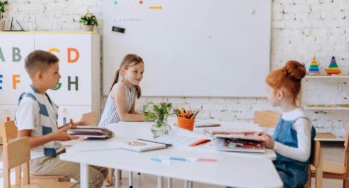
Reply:
[[[31,84],[24,59],[34,51],[34,34],[0,34],[0,104],[16,104]]]

